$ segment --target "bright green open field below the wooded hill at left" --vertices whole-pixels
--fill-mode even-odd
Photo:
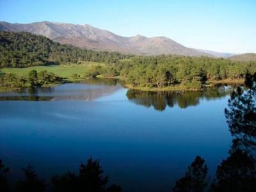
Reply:
[[[29,71],[36,70],[40,72],[42,70],[47,70],[53,72],[54,74],[65,77],[72,80],[73,74],[78,74],[83,76],[84,72],[92,65],[104,65],[103,63],[93,63],[93,62],[83,62],[79,65],[69,64],[69,65],[50,65],[50,66],[36,66],[36,67],[27,67],[27,68],[2,68],[1,71],[4,73],[13,73],[21,76],[27,76]]]

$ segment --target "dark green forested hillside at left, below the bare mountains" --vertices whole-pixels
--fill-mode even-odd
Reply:
[[[116,63],[129,58],[118,52],[96,52],[61,45],[42,35],[28,32],[0,31],[0,67],[30,67],[95,61]]]

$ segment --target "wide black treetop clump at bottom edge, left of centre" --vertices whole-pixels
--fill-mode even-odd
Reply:
[[[81,163],[79,174],[67,172],[63,175],[52,177],[53,191],[89,191],[89,192],[119,192],[120,186],[111,185],[107,187],[108,176],[103,176],[103,170],[100,167],[99,160],[87,160],[86,164]]]

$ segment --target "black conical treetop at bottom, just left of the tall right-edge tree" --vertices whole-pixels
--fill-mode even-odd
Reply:
[[[207,184],[207,165],[200,156],[195,157],[195,161],[188,167],[184,177],[177,180],[173,191],[175,192],[201,192]]]

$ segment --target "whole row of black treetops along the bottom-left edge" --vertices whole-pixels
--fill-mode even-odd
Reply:
[[[6,168],[3,160],[0,159],[0,191],[8,192],[120,192],[122,188],[116,184],[109,185],[109,178],[103,175],[99,160],[93,160],[90,157],[86,164],[81,163],[79,173],[66,172],[61,175],[54,175],[51,179],[51,185],[47,186],[45,180],[38,177],[35,169],[31,164],[26,168],[22,168],[24,179],[19,180],[13,188],[11,188],[7,174],[10,168]]]

